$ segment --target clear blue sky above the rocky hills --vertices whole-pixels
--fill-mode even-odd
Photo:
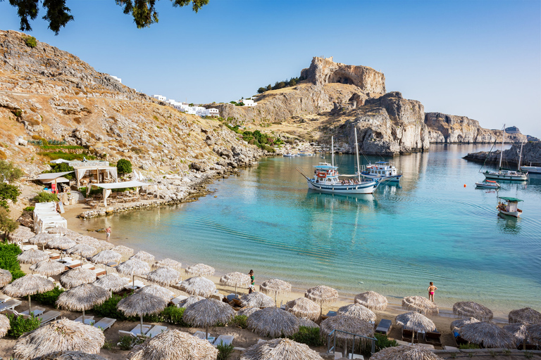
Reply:
[[[425,112],[541,138],[540,0],[210,0],[199,13],[157,3],[159,22],[137,29],[114,0],[66,0],[75,20],[58,36],[43,10],[27,33],[137,91],[189,103],[246,98],[333,56],[383,71],[387,91]],[[19,27],[0,1],[0,29]]]

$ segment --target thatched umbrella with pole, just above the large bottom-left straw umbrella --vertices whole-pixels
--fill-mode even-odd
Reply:
[[[82,311],[82,323],[85,323],[85,310],[103,304],[109,297],[111,295],[104,288],[82,284],[61,293],[56,299],[56,306],[69,311]]]

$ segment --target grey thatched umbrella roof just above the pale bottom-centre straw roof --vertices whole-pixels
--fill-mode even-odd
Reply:
[[[248,316],[248,330],[261,336],[280,338],[291,336],[299,331],[299,319],[279,307],[266,307]]]

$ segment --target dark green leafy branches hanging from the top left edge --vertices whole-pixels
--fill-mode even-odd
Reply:
[[[4,0],[0,0],[4,1]],[[66,6],[66,0],[42,0],[42,7],[46,11],[43,19],[49,22],[49,29],[58,35],[61,27],[73,20],[70,8]],[[158,0],[115,0],[116,4],[123,8],[125,14],[131,14],[135,25],[139,29],[158,23],[156,1]],[[192,10],[197,13],[199,9],[209,4],[209,0],[171,0],[174,7],[188,6],[192,4]],[[35,20],[39,13],[39,0],[9,0],[9,4],[17,8],[20,18],[20,30],[30,31],[30,20]]]

